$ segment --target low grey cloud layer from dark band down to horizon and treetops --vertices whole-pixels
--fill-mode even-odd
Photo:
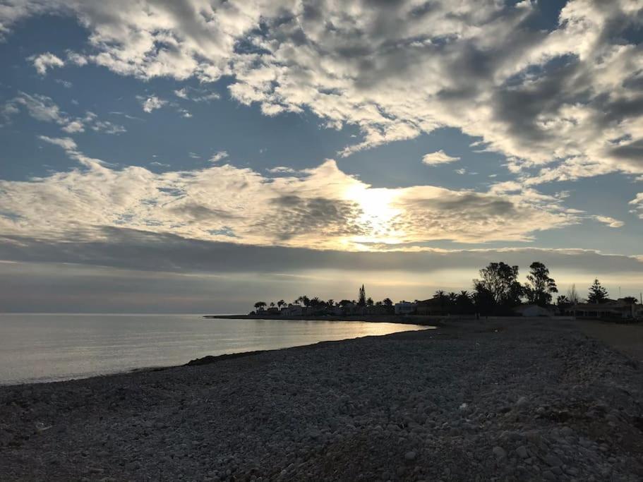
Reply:
[[[638,296],[643,263],[580,249],[433,250],[345,253],[181,239],[127,229],[102,241],[58,243],[0,236],[0,303],[5,311],[46,313],[246,313],[257,299],[426,299],[436,289],[471,289],[480,267],[505,260],[545,263],[561,291],[584,294],[598,276],[613,294]],[[12,260],[6,263],[6,260]]]

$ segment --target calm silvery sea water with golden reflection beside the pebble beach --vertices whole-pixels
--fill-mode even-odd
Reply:
[[[206,355],[419,330],[359,321],[226,320],[200,315],[0,314],[0,384],[173,366]]]

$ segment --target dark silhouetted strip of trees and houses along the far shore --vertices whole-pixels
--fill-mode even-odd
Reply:
[[[531,263],[527,282],[518,281],[519,267],[503,262],[490,263],[480,270],[479,279],[473,280],[471,291],[435,291],[425,300],[398,301],[390,298],[373,301],[366,287],[359,288],[357,299],[323,300],[315,296],[299,296],[292,302],[257,301],[249,316],[270,318],[298,317],[352,317],[363,315],[402,316],[573,316],[576,318],[604,318],[610,320],[643,319],[643,300],[634,296],[612,299],[599,279],[587,288],[587,296],[580,296],[575,285],[565,294],[549,276],[548,268],[540,262]],[[554,296],[555,301],[554,301]]]

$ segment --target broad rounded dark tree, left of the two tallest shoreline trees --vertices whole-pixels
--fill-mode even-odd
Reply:
[[[481,279],[474,279],[478,298],[491,296],[495,305],[512,307],[520,304],[522,285],[518,282],[518,267],[502,261],[489,263],[480,270]]]

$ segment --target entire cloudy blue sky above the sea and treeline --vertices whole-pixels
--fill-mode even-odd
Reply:
[[[643,291],[643,0],[0,1],[0,311]]]

